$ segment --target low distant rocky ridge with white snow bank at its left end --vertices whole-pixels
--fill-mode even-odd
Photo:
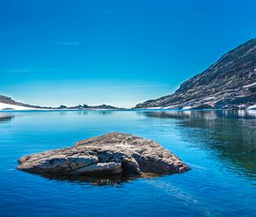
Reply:
[[[118,109],[114,106],[100,105],[100,106],[59,106],[59,107],[47,107],[47,106],[32,106],[29,104],[16,102],[8,96],[0,95],[0,110],[44,110],[44,109],[79,109],[79,110],[90,110],[90,109]]]

